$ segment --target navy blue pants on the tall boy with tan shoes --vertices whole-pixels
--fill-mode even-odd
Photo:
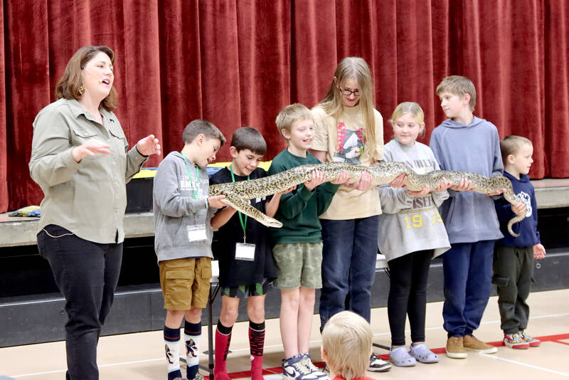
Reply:
[[[479,327],[490,297],[493,257],[493,240],[454,243],[442,255],[445,273],[442,318],[448,337],[464,337]]]

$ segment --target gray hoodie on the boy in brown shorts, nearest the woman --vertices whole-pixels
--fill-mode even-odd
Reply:
[[[175,258],[213,258],[211,217],[216,209],[207,206],[208,171],[198,167],[180,152],[170,152],[154,176],[154,250],[158,261]],[[189,176],[188,176],[189,171]],[[206,240],[190,242],[188,228],[205,227]]]

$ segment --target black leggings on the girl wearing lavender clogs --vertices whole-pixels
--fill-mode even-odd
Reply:
[[[405,345],[406,315],[411,325],[411,341],[425,342],[427,279],[432,253],[432,250],[420,250],[388,262],[387,314],[393,346]]]

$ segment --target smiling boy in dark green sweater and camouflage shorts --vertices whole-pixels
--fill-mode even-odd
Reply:
[[[307,107],[285,107],[276,120],[277,129],[287,140],[287,149],[272,160],[269,175],[304,164],[319,164],[308,152],[314,137],[314,122]],[[275,218],[282,228],[272,228],[275,244],[272,254],[277,263],[275,286],[281,290],[280,332],[285,357],[284,380],[324,379],[308,353],[315,290],[322,287],[322,238],[318,216],[330,205],[339,184],[348,180],[344,171],[330,183],[318,170],[312,179],[283,194]],[[299,307],[302,305],[302,308]]]

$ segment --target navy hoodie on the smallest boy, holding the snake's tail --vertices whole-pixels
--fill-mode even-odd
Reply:
[[[526,204],[526,218],[519,223],[515,223],[512,229],[520,236],[515,238],[508,232],[508,221],[514,218],[514,211],[511,211],[511,205],[504,198],[496,199],[494,205],[496,206],[496,213],[500,221],[500,229],[504,233],[504,238],[499,241],[499,244],[506,247],[531,247],[540,243],[538,232],[538,205],[536,204],[536,192],[533,190],[533,185],[529,181],[527,174],[522,174],[520,179],[512,176],[507,171],[504,171],[512,186],[514,186],[514,194],[518,196],[524,204]]]

